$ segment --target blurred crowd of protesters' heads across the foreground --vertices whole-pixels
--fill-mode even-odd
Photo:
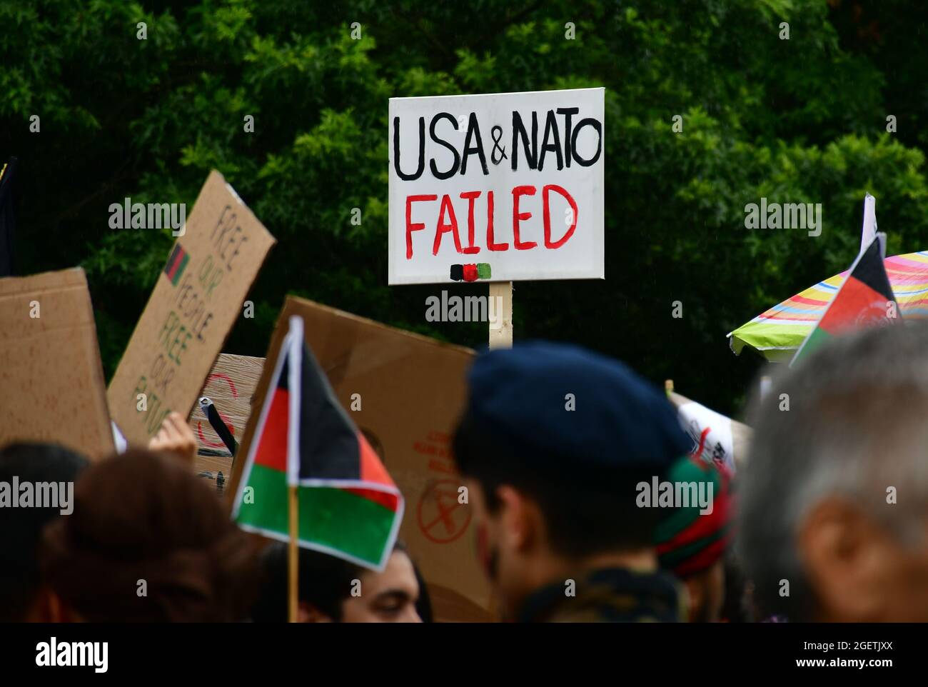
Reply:
[[[495,616],[928,620],[928,327],[839,338],[748,416],[733,473],[623,363],[548,343],[478,356],[453,453]],[[67,513],[0,491],[0,620],[286,621],[287,546],[238,529],[197,450],[176,413],[107,460],[0,449],[7,497],[73,484]],[[416,552],[397,541],[376,571],[301,550],[298,617],[431,621]]]

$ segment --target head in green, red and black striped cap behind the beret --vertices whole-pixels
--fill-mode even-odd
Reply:
[[[690,622],[715,622],[725,601],[725,552],[731,538],[727,470],[685,456],[667,473],[683,503],[666,510],[654,533],[658,561],[687,588]]]

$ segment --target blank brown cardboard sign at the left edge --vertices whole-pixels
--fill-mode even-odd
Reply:
[[[106,384],[80,268],[0,279],[0,446],[53,442],[113,452]]]

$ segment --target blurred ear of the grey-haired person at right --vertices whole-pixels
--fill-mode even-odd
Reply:
[[[822,620],[873,621],[883,605],[887,535],[846,499],[818,503],[799,526],[797,545]]]

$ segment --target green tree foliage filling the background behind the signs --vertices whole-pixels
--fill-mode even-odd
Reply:
[[[386,285],[388,99],[602,85],[606,279],[517,284],[516,336],[588,345],[736,411],[759,358],[725,334],[851,263],[865,191],[890,253],[928,248],[922,74],[904,58],[925,52],[926,11],[857,5],[0,0],[19,272],[87,269],[111,372],[173,239],[110,229],[110,203],[189,207],[216,168],[279,241],[226,350],[264,355],[287,292],[481,345],[485,325],[427,323],[424,303],[485,286]],[[909,128],[887,134],[888,114]],[[821,236],[746,229],[762,196],[820,202]]]

